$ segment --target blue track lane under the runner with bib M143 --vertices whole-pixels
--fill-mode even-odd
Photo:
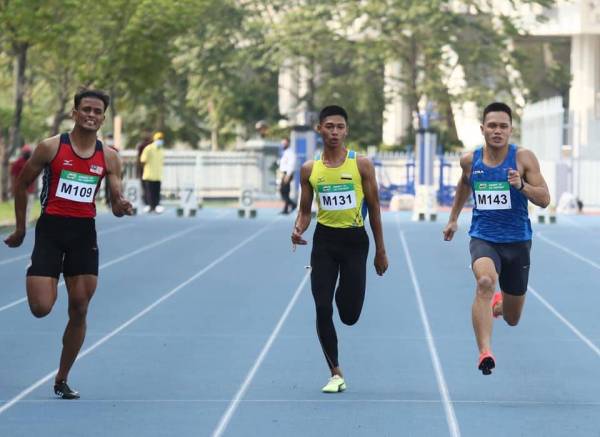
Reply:
[[[590,415],[600,405],[598,357],[533,296],[518,327],[495,322],[493,375],[476,370],[468,237],[461,232],[444,243],[442,226],[412,225],[406,238],[463,435],[588,435],[599,429],[598,416]],[[538,283],[555,273],[552,263],[537,259],[547,248],[534,244],[531,282]],[[554,283],[559,280],[556,275]],[[546,416],[550,420],[542,420]]]

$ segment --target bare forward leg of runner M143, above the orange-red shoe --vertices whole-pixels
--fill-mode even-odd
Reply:
[[[473,330],[479,352],[489,351],[492,337],[491,304],[498,282],[498,274],[491,258],[478,258],[473,263],[473,274],[477,281],[475,299],[471,309]]]

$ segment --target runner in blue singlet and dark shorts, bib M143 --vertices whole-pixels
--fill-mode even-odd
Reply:
[[[550,203],[546,181],[530,150],[509,144],[512,112],[504,103],[483,111],[482,148],[460,159],[462,176],[444,239],[452,240],[460,211],[473,194],[471,267],[477,282],[472,307],[479,348],[478,368],[489,375],[495,367],[491,351],[493,317],[515,326],[521,317],[529,278],[531,222],[527,202],[545,208]],[[495,293],[496,284],[500,293]]]

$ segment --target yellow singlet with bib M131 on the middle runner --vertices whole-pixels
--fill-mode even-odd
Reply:
[[[318,223],[332,228],[365,225],[367,204],[356,152],[349,150],[344,163],[336,168],[326,167],[320,154],[315,156],[308,181],[319,205]]]

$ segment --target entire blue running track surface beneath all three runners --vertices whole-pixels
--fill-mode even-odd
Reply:
[[[124,230],[125,237],[120,232],[106,235],[101,256],[118,256],[130,251],[132,242],[151,241],[143,237],[157,240],[211,218],[185,237],[101,272],[84,348],[274,217],[261,210],[257,220],[240,220],[234,213],[216,220],[217,212],[210,210],[197,219],[176,219],[172,213],[141,216],[133,219],[139,226]],[[496,322],[498,369],[491,377],[481,376],[475,369],[470,322],[473,278],[465,215],[461,233],[450,244],[441,241],[445,218],[433,224],[407,222],[406,214],[402,218],[462,434],[596,435],[598,357],[529,296],[519,327]],[[122,223],[112,220],[107,227]],[[273,224],[76,363],[71,380],[84,395],[81,401],[52,399],[48,383],[0,415],[0,435],[54,436],[73,430],[86,436],[210,435],[305,273],[310,248],[290,253],[291,223],[289,218]],[[547,229],[549,237],[556,231],[552,238],[562,238],[561,222]],[[583,232],[569,226],[564,230],[565,238]],[[307,286],[225,435],[294,437],[322,435],[323,430],[332,436],[449,435],[391,215],[385,217],[385,233],[390,271],[383,279],[370,272],[358,325],[336,323],[348,391],[331,397],[319,392],[327,369]],[[590,309],[598,306],[591,288],[596,271],[539,240],[533,257],[531,284],[597,340],[598,324]],[[29,315],[25,305],[0,313],[6,351],[1,355],[0,399],[9,399],[56,367],[65,323],[64,298],[42,320]]]

